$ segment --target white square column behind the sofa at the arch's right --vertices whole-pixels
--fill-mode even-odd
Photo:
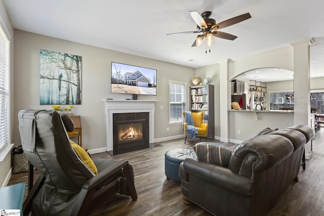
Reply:
[[[294,125],[310,126],[310,57],[312,39],[291,44],[294,48]],[[310,142],[305,145],[305,156],[311,158]]]

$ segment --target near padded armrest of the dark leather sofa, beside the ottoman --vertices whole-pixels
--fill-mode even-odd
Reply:
[[[231,192],[244,196],[252,195],[254,181],[226,167],[197,160],[195,158],[186,158],[183,162],[183,168],[189,175],[189,182],[190,176],[195,176],[196,178],[225,188]]]

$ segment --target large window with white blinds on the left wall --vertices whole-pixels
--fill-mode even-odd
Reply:
[[[0,25],[0,149],[9,144],[9,39]]]

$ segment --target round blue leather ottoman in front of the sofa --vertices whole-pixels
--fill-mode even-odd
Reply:
[[[187,157],[196,157],[193,150],[190,149],[172,149],[165,154],[165,174],[167,180],[181,182],[179,177],[179,166]]]

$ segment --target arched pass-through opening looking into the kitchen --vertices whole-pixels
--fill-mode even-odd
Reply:
[[[249,97],[252,95],[252,110],[293,110],[293,71],[274,67],[257,68],[241,73],[233,80],[244,82],[245,91],[243,94]],[[288,96],[286,97],[286,95]],[[232,101],[235,98],[237,96],[232,96]],[[280,99],[281,104],[277,101]],[[246,106],[242,104],[242,107]]]

